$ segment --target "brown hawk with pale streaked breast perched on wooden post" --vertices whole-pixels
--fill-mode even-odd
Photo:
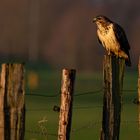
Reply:
[[[95,17],[93,22],[97,25],[98,40],[108,55],[124,58],[126,65],[131,66],[130,45],[122,27],[102,15]]]

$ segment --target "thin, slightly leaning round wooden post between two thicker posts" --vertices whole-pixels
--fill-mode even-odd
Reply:
[[[58,140],[70,140],[75,70],[63,69]]]

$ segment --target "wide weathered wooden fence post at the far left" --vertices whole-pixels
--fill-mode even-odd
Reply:
[[[0,78],[0,140],[24,140],[23,64],[3,64]]]

